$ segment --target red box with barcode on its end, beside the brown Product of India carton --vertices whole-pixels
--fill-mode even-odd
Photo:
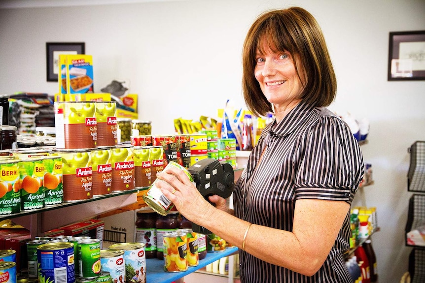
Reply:
[[[98,239],[101,241],[101,248],[104,236],[105,222],[103,220],[91,219],[71,225],[59,227],[63,229],[65,236],[89,236],[92,239]]]

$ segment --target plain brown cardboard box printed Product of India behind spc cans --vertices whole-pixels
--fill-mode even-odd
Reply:
[[[117,243],[132,243],[136,239],[136,211],[130,210],[100,218],[105,222],[104,249]]]

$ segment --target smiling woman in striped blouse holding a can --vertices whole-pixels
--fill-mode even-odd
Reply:
[[[350,283],[350,206],[363,157],[350,128],[324,108],[336,78],[323,34],[306,10],[260,15],[243,48],[248,109],[266,126],[237,181],[234,211],[210,205],[187,176],[170,169],[158,187],[187,219],[240,248],[241,281]]]

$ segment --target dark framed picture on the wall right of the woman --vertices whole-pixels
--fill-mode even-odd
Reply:
[[[388,80],[425,80],[425,31],[390,32]]]

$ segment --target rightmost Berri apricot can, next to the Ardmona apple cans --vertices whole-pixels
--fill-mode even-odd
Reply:
[[[44,205],[50,206],[64,202],[64,184],[62,183],[62,157],[44,157],[43,186]]]

